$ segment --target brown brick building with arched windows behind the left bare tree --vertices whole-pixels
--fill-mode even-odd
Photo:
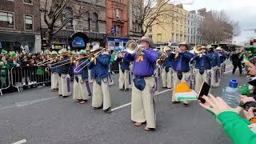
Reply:
[[[87,46],[94,46],[95,44],[101,46],[106,45],[106,1],[74,0],[66,6],[66,9],[63,10],[62,13],[70,14],[72,17],[74,14],[78,13],[78,10],[81,10],[81,7],[86,10],[86,12],[83,13],[80,18],[73,19],[72,22],[69,22],[62,30],[54,35],[51,42],[52,49],[66,48],[70,36],[76,32],[82,32],[89,37]],[[42,38],[45,41],[47,26],[44,22],[43,14],[41,14],[41,18]],[[62,26],[61,21],[56,22],[56,25],[57,27]]]

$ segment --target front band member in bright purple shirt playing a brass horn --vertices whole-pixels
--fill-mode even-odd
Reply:
[[[126,54],[125,59],[134,62],[134,85],[131,96],[131,120],[135,126],[146,122],[146,131],[156,128],[154,110],[154,68],[158,53],[152,50],[154,42],[143,37],[136,54]],[[131,43],[132,44],[132,43]],[[128,45],[129,46],[129,45]],[[127,47],[128,47],[127,46]]]

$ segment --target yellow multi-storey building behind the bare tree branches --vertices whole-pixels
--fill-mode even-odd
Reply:
[[[146,35],[153,38],[156,44],[167,44],[170,42],[187,42],[188,36],[188,11],[182,5],[166,4],[166,15],[161,23],[149,27]]]

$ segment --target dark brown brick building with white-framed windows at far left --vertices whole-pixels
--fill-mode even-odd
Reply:
[[[41,50],[39,0],[0,0],[0,42],[4,50]]]

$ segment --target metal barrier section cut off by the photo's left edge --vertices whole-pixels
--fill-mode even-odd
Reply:
[[[10,70],[0,69],[0,94],[2,95],[2,90],[6,90],[10,87]]]

